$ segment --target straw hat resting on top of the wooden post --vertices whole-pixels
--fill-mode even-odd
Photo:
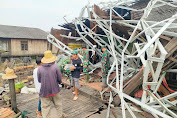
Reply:
[[[3,79],[14,79],[17,78],[17,76],[14,73],[13,69],[10,69],[9,67],[6,69],[6,74],[2,76]]]

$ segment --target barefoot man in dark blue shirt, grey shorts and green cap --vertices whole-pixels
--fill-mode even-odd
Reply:
[[[78,52],[76,50],[74,50],[72,52],[72,67],[71,67],[71,86],[74,87],[74,92],[73,94],[75,94],[73,100],[77,100],[78,99],[78,91],[79,91],[79,78],[80,78],[80,72],[83,69],[82,66],[82,61],[81,59],[79,59],[78,57]]]

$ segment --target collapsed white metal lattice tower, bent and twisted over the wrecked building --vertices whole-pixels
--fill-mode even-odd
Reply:
[[[98,9],[96,6],[90,6],[88,4],[81,10],[80,16],[73,20],[75,30],[80,37],[61,36],[83,40],[90,48],[94,47],[94,44],[89,39],[95,41],[98,46],[107,46],[108,52],[113,57],[113,61],[107,76],[108,87],[101,94],[108,88],[111,88],[113,92],[119,95],[123,118],[126,117],[125,108],[128,109],[133,118],[136,118],[127,102],[125,102],[125,99],[141,106],[143,110],[151,113],[155,118],[159,116],[177,118],[177,114],[168,108],[177,104],[177,100],[169,101],[170,98],[177,96],[177,92],[165,97],[160,97],[157,92],[166,72],[177,72],[177,70],[171,69],[172,67],[163,69],[164,61],[168,57],[168,53],[160,41],[160,38],[164,36],[176,39],[177,33],[174,30],[177,29],[177,13],[175,12],[169,18],[161,21],[149,19],[152,10],[164,6],[176,9],[177,2],[151,0],[146,7],[135,9],[130,7],[134,4],[134,1],[117,0],[116,2],[100,3],[99,5],[103,9],[100,14],[95,10]],[[121,15],[115,8],[124,9],[127,13]],[[130,14],[129,11],[143,12],[143,15],[138,20],[126,19],[125,17]],[[86,20],[90,21],[90,27],[84,23]],[[98,29],[102,33],[95,31]],[[123,35],[119,35],[116,31],[121,32]],[[107,41],[103,40],[103,38],[106,38]],[[70,55],[71,49],[55,37],[49,35],[47,39]],[[102,55],[100,49],[93,48],[93,50],[100,56]],[[92,68],[96,67],[93,66]],[[110,82],[109,76],[113,72],[116,72],[116,77]],[[141,101],[138,101],[123,92],[123,82],[140,73],[139,79],[142,80],[143,95]],[[116,84],[116,87],[113,84]],[[107,118],[109,117],[112,100],[113,96],[112,92],[110,92]]]

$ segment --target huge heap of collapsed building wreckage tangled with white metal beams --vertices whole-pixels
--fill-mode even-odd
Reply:
[[[143,5],[137,7],[137,4]],[[176,106],[177,92],[168,87],[165,79],[166,73],[177,72],[176,19],[175,1],[118,0],[100,3],[99,6],[88,4],[73,23],[68,24],[68,27],[67,24],[63,25],[64,28],[77,31],[79,37],[61,35],[62,37],[83,40],[100,57],[100,47],[106,45],[111,55],[108,87],[101,92],[103,95],[105,91],[112,89],[107,118],[114,99],[117,99],[116,104],[121,103],[123,117],[126,117],[125,108],[132,117],[136,117],[127,100],[153,117],[177,117],[169,109]],[[51,34],[48,35],[48,41],[71,55],[72,50]],[[99,66],[91,63],[89,67],[92,73]],[[113,73],[115,76],[110,79]],[[139,89],[142,90],[138,91]],[[139,100],[135,99],[136,96]]]

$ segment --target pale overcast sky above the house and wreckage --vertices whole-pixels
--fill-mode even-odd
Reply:
[[[50,31],[58,24],[70,22],[77,17],[81,9],[91,4],[115,0],[0,0],[0,24],[37,27]]]

